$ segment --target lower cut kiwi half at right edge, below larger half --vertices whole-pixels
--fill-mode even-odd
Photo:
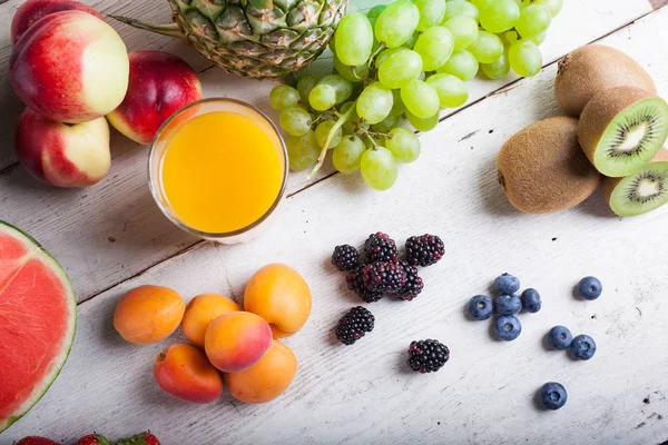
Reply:
[[[603,178],[602,191],[619,216],[638,216],[668,202],[668,150],[626,178]]]

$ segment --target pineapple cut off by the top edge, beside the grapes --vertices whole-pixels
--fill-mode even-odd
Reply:
[[[228,72],[281,78],[310,66],[326,48],[347,0],[168,0],[174,23],[136,28],[178,37]]]

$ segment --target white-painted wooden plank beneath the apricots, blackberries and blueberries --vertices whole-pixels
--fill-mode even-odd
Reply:
[[[668,71],[648,42],[668,38],[667,18],[668,10],[659,11],[605,39],[648,66],[661,91],[668,90]],[[354,176],[322,181],[288,199],[258,240],[204,244],[81,304],[61,376],[2,438],[45,434],[71,442],[94,429],[122,436],[150,428],[168,444],[665,441],[668,237],[649,234],[662,234],[668,208],[621,219],[597,194],[576,209],[527,216],[510,207],[495,184],[495,154],[505,138],[558,113],[556,69],[423,135],[421,161],[402,167],[392,194],[373,192]],[[414,301],[367,305],[374,332],[343,347],[332,328],[360,301],[328,256],[335,245],[361,244],[376,230],[400,243],[439,234],[446,256],[423,269],[425,290]],[[272,261],[288,263],[306,277],[314,308],[305,328],[286,340],[301,363],[296,380],[271,404],[248,406],[229,396],[209,406],[175,400],[153,382],[151,364],[180,337],[139,347],[125,344],[111,327],[118,298],[137,285],[170,286],[187,299],[222,291],[240,300],[248,277]],[[489,291],[502,271],[543,298],[539,314],[521,316],[523,333],[513,343],[492,340],[489,323],[463,316],[468,298]],[[584,275],[603,281],[599,300],[572,297]],[[542,336],[556,324],[591,335],[597,355],[573,362],[544,350]],[[433,375],[410,373],[402,354],[412,339],[430,337],[452,349],[450,363]],[[549,380],[569,392],[567,406],[554,413],[534,402]]]

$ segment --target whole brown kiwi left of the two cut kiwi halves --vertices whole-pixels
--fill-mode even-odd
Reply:
[[[578,120],[566,116],[541,120],[508,139],[497,170],[503,192],[525,214],[574,207],[600,179],[578,145]]]

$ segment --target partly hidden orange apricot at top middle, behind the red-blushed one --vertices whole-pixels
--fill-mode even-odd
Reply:
[[[181,329],[195,346],[204,347],[204,335],[210,323],[223,314],[242,310],[239,305],[219,294],[202,294],[193,298],[181,322]]]

